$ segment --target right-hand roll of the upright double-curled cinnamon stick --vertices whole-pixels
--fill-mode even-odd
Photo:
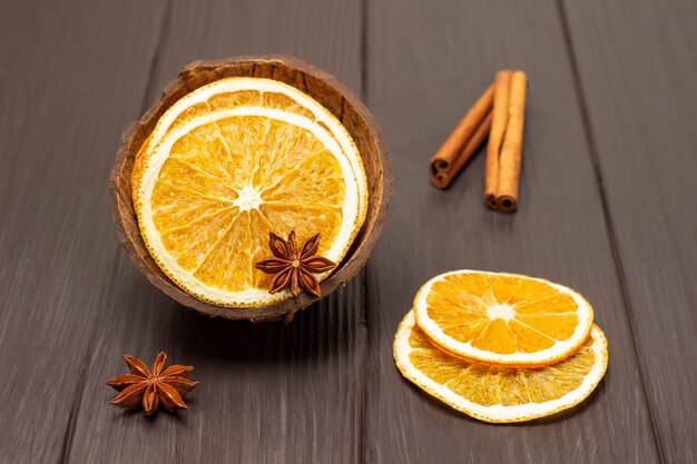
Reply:
[[[518,207],[518,186],[522,160],[522,139],[526,119],[526,88],[528,77],[516,71],[511,77],[509,117],[499,157],[499,186],[497,207],[501,211],[514,211]]]

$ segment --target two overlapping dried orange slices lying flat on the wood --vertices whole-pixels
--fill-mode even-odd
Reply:
[[[608,342],[590,304],[551,282],[455,270],[424,284],[394,338],[402,375],[472,417],[524,422],[596,388]]]

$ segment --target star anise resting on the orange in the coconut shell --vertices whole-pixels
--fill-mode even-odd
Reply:
[[[298,285],[316,297],[322,296],[320,283],[313,274],[321,274],[336,267],[322,256],[315,256],[320,249],[320,234],[305,241],[302,248],[295,244],[295,230],[284,240],[274,233],[268,234],[268,247],[275,258],[264,259],[254,266],[266,274],[273,274],[268,293],[275,294],[291,288],[293,296],[298,295]]]

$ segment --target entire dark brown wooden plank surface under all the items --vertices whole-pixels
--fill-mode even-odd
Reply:
[[[0,14],[0,463],[697,462],[697,7],[591,0],[8,0]],[[200,58],[282,52],[373,111],[394,196],[367,267],[288,326],[154,288],[106,190],[125,125]],[[501,68],[530,78],[520,208],[430,157]],[[583,293],[610,367],[583,405],[497,426],[397,374],[396,324],[455,268]],[[108,405],[121,355],[196,366],[190,409]]]

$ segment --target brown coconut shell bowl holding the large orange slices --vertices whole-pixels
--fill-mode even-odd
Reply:
[[[138,228],[131,201],[131,171],[136,154],[150,135],[160,116],[186,93],[232,76],[276,79],[313,97],[344,125],[356,142],[369,186],[367,217],[348,254],[334,273],[322,283],[322,296],[345,285],[363,266],[380,237],[387,217],[392,195],[392,168],[387,149],[373,116],[334,76],[294,57],[268,55],[194,61],[170,82],[161,98],[140,118],[126,128],[109,179],[114,223],[119,240],[130,259],[150,283],[181,305],[209,316],[253,322],[285,319],[318,298],[306,293],[284,302],[256,307],[223,307],[202,302],[175,285],[150,257]]]

